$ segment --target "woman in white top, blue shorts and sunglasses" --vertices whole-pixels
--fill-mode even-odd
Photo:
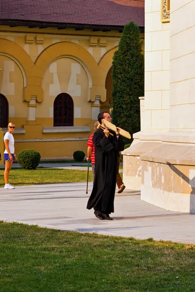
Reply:
[[[8,124],[8,131],[4,136],[5,151],[4,151],[4,160],[5,160],[5,171],[4,171],[4,180],[5,186],[4,189],[14,189],[15,186],[9,184],[9,172],[12,168],[13,161],[16,161],[16,155],[14,154],[14,137],[13,131],[15,125],[13,123]]]

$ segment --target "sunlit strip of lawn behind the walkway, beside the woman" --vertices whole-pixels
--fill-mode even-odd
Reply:
[[[3,173],[4,169],[0,169],[0,186],[4,186]],[[89,181],[93,181],[92,171],[89,171]],[[13,185],[87,182],[87,170],[43,167],[35,170],[12,168],[9,182]]]

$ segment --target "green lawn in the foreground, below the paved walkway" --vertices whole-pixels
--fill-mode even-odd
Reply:
[[[194,292],[195,245],[0,222],[0,292]]]

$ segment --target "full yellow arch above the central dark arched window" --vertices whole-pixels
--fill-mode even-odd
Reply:
[[[49,64],[52,63],[53,60],[55,60],[56,58],[63,56],[69,56],[75,58],[76,60],[79,60],[79,62],[84,65],[86,72],[88,72],[88,76],[91,76],[91,88],[88,101],[95,101],[96,95],[100,95],[101,98],[104,100],[106,98],[106,73],[104,72],[104,70],[98,67],[98,64],[94,57],[86,49],[76,43],[55,43],[41,52],[41,54],[35,61],[36,68],[38,68],[39,71],[42,72],[41,79],[43,78],[43,74]]]

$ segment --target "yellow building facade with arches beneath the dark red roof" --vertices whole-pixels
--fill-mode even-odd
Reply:
[[[16,154],[31,148],[41,159],[86,153],[98,113],[110,109],[112,58],[120,36],[119,31],[1,26],[5,113],[0,126],[5,133],[8,122],[16,125]]]

